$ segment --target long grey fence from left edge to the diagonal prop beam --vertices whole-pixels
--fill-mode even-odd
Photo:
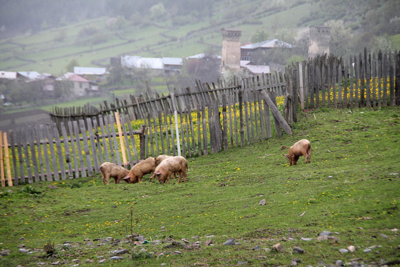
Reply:
[[[92,176],[104,161],[129,168],[159,154],[216,153],[281,136],[281,128],[291,134],[276,107],[283,82],[262,77],[141,101],[133,114],[143,118],[133,121],[115,112],[3,133],[2,186]]]

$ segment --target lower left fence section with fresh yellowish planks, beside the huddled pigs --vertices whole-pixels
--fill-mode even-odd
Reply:
[[[104,161],[132,166],[144,157],[145,126],[132,130],[123,116],[115,116],[117,121],[99,115],[68,122],[69,131],[63,123],[61,132],[55,123],[8,135],[0,131],[1,186],[92,176]]]

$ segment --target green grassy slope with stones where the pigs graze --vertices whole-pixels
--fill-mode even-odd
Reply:
[[[134,260],[124,254],[123,260],[106,261],[104,266],[232,266],[238,261],[247,261],[246,266],[273,266],[288,265],[293,258],[300,258],[301,265],[315,266],[320,260],[325,264],[351,258],[362,258],[360,263],[398,260],[399,233],[390,229],[398,228],[399,219],[399,124],[398,107],[353,112],[322,109],[299,115],[293,136],[188,159],[186,183],[172,179],[161,185],[150,182],[147,175],[139,184],[103,186],[97,174],[1,188],[0,250],[11,252],[1,258],[0,266],[37,266],[37,262],[56,260],[72,264],[72,259],[92,259],[84,265],[97,266],[97,256],[108,258],[109,251],[118,246],[130,249],[129,244],[89,249],[83,239],[121,239],[130,228],[149,241],[186,238],[200,241],[201,247],[189,250],[166,247],[170,241],[150,242],[134,247]],[[302,138],[311,142],[311,164],[300,157],[298,165],[288,166],[280,146]],[[50,189],[49,184],[59,189]],[[258,204],[261,199],[266,202],[263,206]],[[323,230],[334,232],[338,240],[299,239],[316,238]],[[295,239],[281,241],[289,236]],[[240,244],[223,245],[229,237]],[[215,245],[204,246],[207,239]],[[42,249],[47,241],[72,241],[77,247],[56,247],[54,258],[46,258],[43,251],[17,252],[18,244],[33,250]],[[278,242],[284,253],[263,250]],[[252,250],[256,245],[262,249]],[[359,248],[338,252],[349,245]],[[372,245],[382,247],[362,252]],[[292,255],[294,246],[305,253]],[[141,248],[164,255],[145,257],[138,254]]]

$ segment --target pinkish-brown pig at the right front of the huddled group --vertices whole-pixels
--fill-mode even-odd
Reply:
[[[186,182],[186,171],[187,160],[182,156],[175,156],[161,161],[154,174],[157,176],[159,183],[169,183],[171,174],[177,173],[179,175],[178,183],[180,183],[182,177],[184,178],[184,182]]]

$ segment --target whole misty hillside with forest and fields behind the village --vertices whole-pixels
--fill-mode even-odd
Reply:
[[[299,33],[331,20],[339,56],[364,46],[398,49],[399,10],[396,0],[4,0],[0,70],[61,75],[71,62],[106,67],[120,55],[220,54],[222,28],[240,29],[241,43],[295,44],[304,56]]]

